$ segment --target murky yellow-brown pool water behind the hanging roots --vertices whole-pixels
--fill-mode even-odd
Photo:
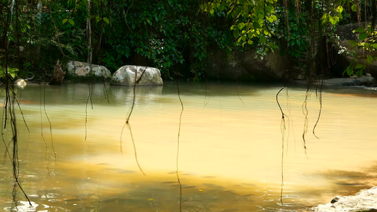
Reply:
[[[325,88],[319,139],[312,130],[320,104],[311,93],[305,151],[304,88],[279,95],[282,135],[281,87],[181,83],[177,160],[182,108],[175,84],[137,88],[134,145],[127,126],[121,140],[133,88],[105,88],[108,98],[103,85],[93,86],[87,124],[86,84],[16,91],[30,129],[17,110],[20,179],[33,204],[18,189],[18,211],[180,211],[177,162],[182,211],[305,211],[377,184],[375,90]],[[11,211],[8,156],[1,164],[0,208]]]

